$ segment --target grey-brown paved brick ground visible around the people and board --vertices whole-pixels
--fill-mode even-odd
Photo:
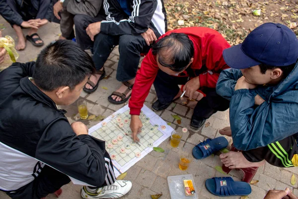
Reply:
[[[3,23],[6,28],[3,30],[3,35],[9,34],[13,38],[16,35],[13,29],[3,18],[0,18],[0,23]],[[27,33],[27,30],[24,30]],[[44,27],[40,28],[39,35],[47,44],[54,39],[58,38],[60,33],[59,24],[49,23]],[[27,47],[24,51],[19,52],[20,58],[19,62],[26,62],[29,60],[34,60],[41,48],[34,47],[31,43],[27,42]],[[117,62],[119,59],[118,49],[115,48],[109,57],[109,60],[105,64],[105,69],[107,75],[110,77],[108,79],[102,80],[99,84],[97,91],[93,94],[87,95],[86,93],[81,93],[80,99],[85,99],[88,101],[88,110],[90,114],[102,114],[104,116],[109,116],[114,111],[118,110],[124,105],[114,105],[110,104],[107,97],[117,89],[121,83],[116,79]],[[108,90],[102,89],[102,87],[107,87]],[[151,88],[149,96],[146,99],[146,105],[151,106],[151,103],[156,100],[154,88]],[[164,120],[171,122],[171,126],[181,131],[182,127],[187,127],[189,132],[185,133],[181,143],[178,148],[172,148],[169,145],[169,140],[165,140],[160,147],[165,149],[164,153],[157,153],[152,151],[149,155],[145,156],[141,161],[128,170],[128,175],[125,178],[133,182],[133,188],[128,195],[123,197],[123,199],[150,199],[152,194],[160,194],[163,196],[160,199],[170,199],[169,190],[167,185],[167,176],[175,176],[182,174],[192,174],[195,179],[196,192],[199,194],[199,199],[216,199],[219,197],[211,195],[205,188],[204,182],[208,178],[212,177],[222,177],[228,176],[219,173],[215,167],[221,166],[220,158],[217,155],[210,156],[204,160],[194,160],[187,171],[181,171],[178,168],[178,153],[179,151],[186,150],[191,153],[193,147],[200,142],[200,140],[205,140],[207,138],[215,138],[220,136],[218,130],[229,125],[228,111],[217,112],[208,119],[208,125],[204,125],[199,131],[193,131],[189,127],[190,118],[193,113],[194,104],[191,107],[180,104],[179,102],[172,103],[166,110],[157,112]],[[70,120],[73,114],[77,113],[76,106],[70,105],[65,108],[68,113],[66,114]],[[174,121],[171,114],[178,114],[182,118],[181,124]],[[91,127],[97,122],[84,121],[84,123]],[[206,127],[208,126],[208,127]],[[229,138],[227,138],[230,140]],[[298,196],[298,183],[294,186],[290,183],[290,178],[294,174],[298,179],[298,168],[281,169],[278,167],[273,167],[266,163],[258,169],[257,174],[254,179],[259,180],[259,183],[254,186],[252,185],[252,193],[249,195],[250,199],[263,199],[266,192],[270,189],[285,189],[289,187]],[[234,180],[241,179],[241,174],[236,171],[232,171],[231,175],[234,176]],[[63,194],[61,199],[80,199],[80,186],[69,185],[64,186]],[[230,197],[230,199],[239,199],[240,197]],[[0,192],[0,199],[8,199],[8,197]],[[54,195],[49,195],[47,199],[55,199]]]

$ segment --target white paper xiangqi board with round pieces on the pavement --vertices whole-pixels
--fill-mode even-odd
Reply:
[[[140,142],[135,143],[129,126],[129,111],[126,105],[89,129],[90,135],[106,141],[106,150],[113,161],[116,177],[145,157],[174,130],[144,105],[140,114],[143,123],[141,133],[138,134]]]

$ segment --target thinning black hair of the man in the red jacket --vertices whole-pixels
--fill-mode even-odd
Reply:
[[[161,52],[170,50],[165,56]],[[171,33],[152,45],[153,55],[158,55],[158,62],[172,71],[180,72],[194,56],[194,44],[184,33]],[[166,60],[166,61],[165,61]]]

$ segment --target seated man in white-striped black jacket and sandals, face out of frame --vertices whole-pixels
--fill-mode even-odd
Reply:
[[[123,84],[108,100],[121,104],[131,95],[140,54],[147,54],[150,44],[167,30],[166,13],[163,0],[104,0],[103,5],[106,20],[91,23],[86,29],[94,40],[96,75],[90,77],[83,90],[92,93],[97,89],[105,76],[103,65],[119,44],[116,79]]]

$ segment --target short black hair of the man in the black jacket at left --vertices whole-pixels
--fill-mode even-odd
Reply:
[[[32,78],[44,91],[54,91],[62,86],[73,90],[94,72],[92,58],[79,45],[70,40],[58,40],[40,52]]]

